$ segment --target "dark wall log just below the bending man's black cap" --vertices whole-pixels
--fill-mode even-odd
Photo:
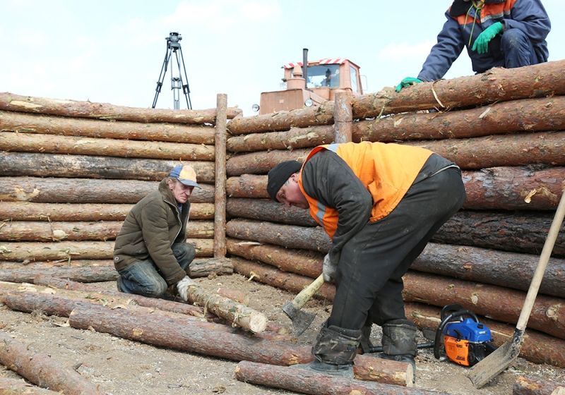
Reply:
[[[232,218],[258,219],[282,222],[289,225],[317,226],[308,210],[298,207],[285,207],[273,200],[235,199],[227,200],[227,214]]]

